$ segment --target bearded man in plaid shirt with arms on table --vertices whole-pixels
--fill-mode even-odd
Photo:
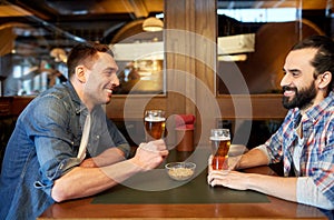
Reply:
[[[276,133],[243,154],[235,169],[283,160],[285,177],[210,170],[208,183],[315,206],[333,218],[333,40],[325,36],[304,39],[287,54],[283,70],[283,106],[289,111]]]

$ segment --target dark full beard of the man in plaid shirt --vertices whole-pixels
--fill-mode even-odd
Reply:
[[[316,97],[316,88],[314,82],[310,87],[298,90],[293,87],[283,87],[283,92],[288,90],[295,91],[295,97],[284,97],[283,96],[283,107],[286,109],[298,108],[301,110],[306,109],[313,104],[313,100]]]

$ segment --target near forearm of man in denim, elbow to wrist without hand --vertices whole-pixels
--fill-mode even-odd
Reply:
[[[60,202],[92,196],[118,184],[141,170],[143,168],[131,160],[104,168],[77,167],[55,181],[51,197]]]

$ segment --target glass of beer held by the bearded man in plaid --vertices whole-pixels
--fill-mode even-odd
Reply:
[[[228,129],[212,129],[210,134],[213,152],[213,170],[228,169],[228,150],[230,146],[230,133]]]

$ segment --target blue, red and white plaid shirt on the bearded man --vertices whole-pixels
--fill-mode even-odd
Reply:
[[[284,176],[293,164],[293,152],[302,140],[299,177],[311,177],[322,193],[334,201],[334,92],[318,106],[307,110],[302,119],[303,138],[296,132],[301,112],[297,108],[287,112],[282,126],[265,142],[271,162],[283,159]]]

